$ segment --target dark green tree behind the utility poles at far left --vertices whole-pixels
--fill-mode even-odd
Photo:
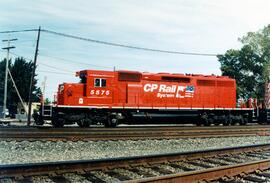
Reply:
[[[4,65],[4,68],[3,68]],[[29,95],[29,86],[30,86],[30,78],[32,74],[32,69],[34,67],[33,62],[26,62],[24,58],[18,57],[15,59],[14,63],[10,64],[10,72],[13,76],[13,79],[15,81],[15,84],[21,94],[21,97],[23,101],[28,101],[28,95]],[[4,92],[4,74],[5,73],[5,60],[0,62],[0,93],[1,98],[0,102],[3,103],[3,92]],[[3,71],[3,72],[2,72]],[[37,79],[34,78],[34,88],[33,88],[33,94],[32,99],[34,102],[39,101],[39,96],[41,94],[41,90],[39,87],[37,87]],[[7,97],[7,106],[11,111],[14,111],[17,108],[18,103],[20,102],[19,97],[16,93],[15,88],[13,87],[13,84],[11,80],[8,80],[8,97]]]

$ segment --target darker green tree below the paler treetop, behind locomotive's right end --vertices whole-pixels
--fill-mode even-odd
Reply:
[[[237,98],[261,98],[264,95],[262,77],[266,60],[255,53],[251,46],[245,45],[240,50],[228,50],[218,55],[222,75],[231,76],[237,83]]]

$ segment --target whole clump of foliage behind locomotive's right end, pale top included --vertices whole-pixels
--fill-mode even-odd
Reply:
[[[257,32],[248,32],[239,41],[240,50],[219,55],[222,75],[237,82],[237,97],[264,98],[264,86],[270,81],[270,25]]]

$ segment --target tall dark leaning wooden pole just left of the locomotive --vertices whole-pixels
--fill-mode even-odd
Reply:
[[[34,67],[33,67],[33,70],[32,70],[32,76],[31,76],[30,88],[29,88],[29,96],[28,96],[28,120],[27,120],[27,126],[30,126],[30,123],[31,123],[32,92],[33,92],[33,83],[34,83],[35,71],[36,71],[36,67],[37,67],[37,55],[38,55],[40,29],[41,28],[39,26],[39,28],[38,28],[37,43],[36,43],[35,58],[34,58]]]

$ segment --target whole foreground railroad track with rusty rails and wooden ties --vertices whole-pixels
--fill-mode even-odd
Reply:
[[[0,182],[270,181],[270,144],[89,161],[0,166]]]

